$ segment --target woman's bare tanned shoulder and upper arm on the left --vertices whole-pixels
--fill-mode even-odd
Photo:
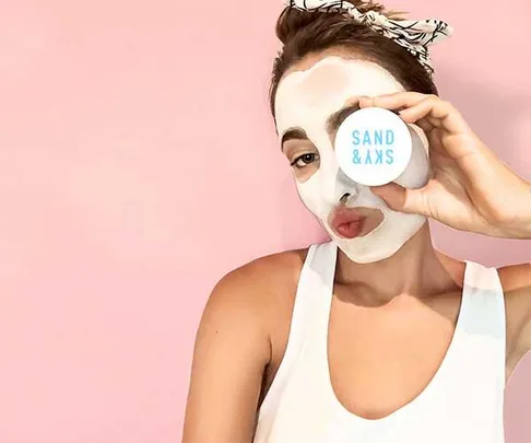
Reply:
[[[213,289],[196,338],[184,442],[251,441],[263,375],[275,358],[275,322],[305,256],[259,258]]]

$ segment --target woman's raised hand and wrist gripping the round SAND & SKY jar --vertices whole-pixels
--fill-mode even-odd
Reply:
[[[531,184],[480,140],[461,114],[436,95],[400,92],[362,97],[359,106],[400,110],[429,141],[433,178],[420,189],[371,187],[397,211],[421,213],[461,231],[531,238]]]

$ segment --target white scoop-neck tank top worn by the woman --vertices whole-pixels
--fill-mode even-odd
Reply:
[[[286,351],[259,411],[255,443],[503,443],[505,301],[496,268],[465,260],[456,331],[427,387],[382,419],[338,400],[328,368],[337,246],[310,246]]]

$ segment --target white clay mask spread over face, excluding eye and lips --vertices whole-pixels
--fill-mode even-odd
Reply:
[[[319,170],[304,183],[297,183],[304,205],[320,221],[330,237],[353,261],[379,261],[397,253],[426,222],[425,217],[396,212],[366,186],[352,182],[339,168],[333,138],[327,132],[327,118],[346,102],[362,95],[376,96],[403,91],[402,85],[376,63],[327,57],[307,71],[296,71],[280,82],[275,98],[276,128],[282,135],[300,128],[319,151]],[[424,186],[429,176],[427,144],[422,130],[412,130],[412,158],[396,183],[409,187]],[[328,218],[341,197],[349,193],[349,207],[378,209],[384,221],[368,234],[344,238],[331,229]]]

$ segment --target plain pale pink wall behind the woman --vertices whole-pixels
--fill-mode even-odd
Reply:
[[[388,4],[455,25],[441,94],[531,179],[529,0]],[[268,110],[281,1],[0,5],[0,443],[179,441],[214,283],[324,238]],[[485,265],[531,259],[531,242],[434,235]],[[528,361],[509,443],[531,440],[530,394]]]

